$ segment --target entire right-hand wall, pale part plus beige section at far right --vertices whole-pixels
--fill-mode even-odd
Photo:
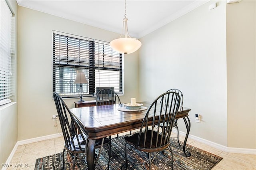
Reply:
[[[217,8],[208,10],[213,2]],[[255,149],[255,30],[256,1],[210,1],[145,36],[140,98],[181,89],[184,106],[192,109],[190,134],[230,148]],[[195,113],[201,123],[194,122]],[[179,121],[186,131],[183,124]]]

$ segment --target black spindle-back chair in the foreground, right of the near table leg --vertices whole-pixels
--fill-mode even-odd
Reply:
[[[165,102],[162,102],[165,101]],[[126,164],[125,168],[128,168],[128,158],[127,158],[127,144],[135,147],[137,150],[141,151],[144,158],[149,164],[149,169],[151,170],[151,164],[158,155],[159,152],[168,149],[172,155],[172,169],[173,169],[173,154],[170,147],[170,136],[172,132],[172,127],[180,106],[180,95],[176,92],[166,92],[155,99],[155,101],[148,107],[145,117],[142,121],[140,127],[140,132],[135,134],[125,136],[126,141],[124,152]],[[163,123],[164,127],[155,126]],[[144,154],[147,153],[147,156]],[[151,158],[151,153],[156,152]],[[130,158],[132,159],[132,158]],[[144,164],[132,162],[134,164]],[[145,166],[144,166],[145,168]],[[145,168],[146,169],[146,168]]]

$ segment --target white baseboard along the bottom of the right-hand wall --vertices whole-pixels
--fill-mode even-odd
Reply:
[[[177,129],[176,129],[176,128],[173,128],[172,131],[175,132],[175,133],[177,133]],[[186,132],[182,132],[182,131],[179,130],[179,135],[180,135],[180,136],[186,136]],[[210,141],[210,140],[206,140],[206,139],[200,138],[200,137],[198,137],[198,136],[194,136],[194,135],[192,135],[192,134],[189,134],[188,137],[189,137],[190,139],[193,139],[193,140],[196,140],[196,141],[198,141],[198,142],[207,144],[207,145],[209,145],[209,146],[212,146],[212,147],[217,148],[217,149],[219,149],[219,150],[222,150],[222,151],[224,151],[224,152],[237,153],[237,154],[256,154],[256,149],[231,148],[231,147],[227,147],[227,146],[224,146],[224,145],[221,145],[221,144],[212,142],[212,141]]]

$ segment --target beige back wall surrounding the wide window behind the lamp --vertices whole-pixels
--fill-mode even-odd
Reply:
[[[119,34],[20,6],[18,12],[18,140],[24,140],[58,133],[52,121],[52,30],[107,42]],[[124,94],[123,103],[138,97],[138,53],[124,56]],[[65,99],[70,108],[78,100]]]

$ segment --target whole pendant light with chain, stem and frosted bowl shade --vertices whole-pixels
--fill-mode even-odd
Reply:
[[[128,18],[126,18],[126,0],[124,0],[124,19],[123,19],[123,29],[122,29],[122,34],[124,30],[124,38],[122,38],[122,34],[121,34],[118,39],[112,40],[109,43],[110,47],[112,47],[114,50],[124,54],[133,53],[137,51],[141,46],[141,42],[139,40],[135,38],[131,38],[129,36],[127,22],[128,22]]]

